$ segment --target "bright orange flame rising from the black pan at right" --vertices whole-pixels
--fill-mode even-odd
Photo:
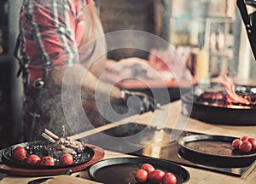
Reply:
[[[231,78],[228,78],[227,74],[225,74],[225,78],[219,78],[220,82],[225,86],[227,92],[227,101],[230,103],[241,103],[250,105],[251,101],[242,97],[241,95],[237,95],[235,91],[235,84]]]

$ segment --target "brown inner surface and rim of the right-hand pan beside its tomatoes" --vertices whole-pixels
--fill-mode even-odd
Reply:
[[[217,158],[256,158],[256,150],[241,152],[232,148],[232,141],[236,137],[220,135],[189,135],[178,141],[179,145],[186,151],[197,153],[202,156]]]

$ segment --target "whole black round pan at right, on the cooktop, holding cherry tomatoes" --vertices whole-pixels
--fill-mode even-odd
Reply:
[[[232,148],[236,137],[221,135],[188,135],[178,140],[179,155],[198,164],[216,167],[244,167],[256,159],[256,150],[241,152]],[[200,158],[200,159],[198,159]]]

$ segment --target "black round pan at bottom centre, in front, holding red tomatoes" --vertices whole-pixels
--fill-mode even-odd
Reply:
[[[189,172],[183,167],[156,158],[109,158],[93,164],[89,173],[94,180],[105,184],[135,184],[134,175],[144,163],[152,164],[158,170],[172,172],[177,177],[177,184],[189,181]]]

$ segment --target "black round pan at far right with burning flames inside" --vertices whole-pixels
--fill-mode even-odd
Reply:
[[[256,87],[218,79],[181,97],[183,115],[211,124],[256,125]]]

